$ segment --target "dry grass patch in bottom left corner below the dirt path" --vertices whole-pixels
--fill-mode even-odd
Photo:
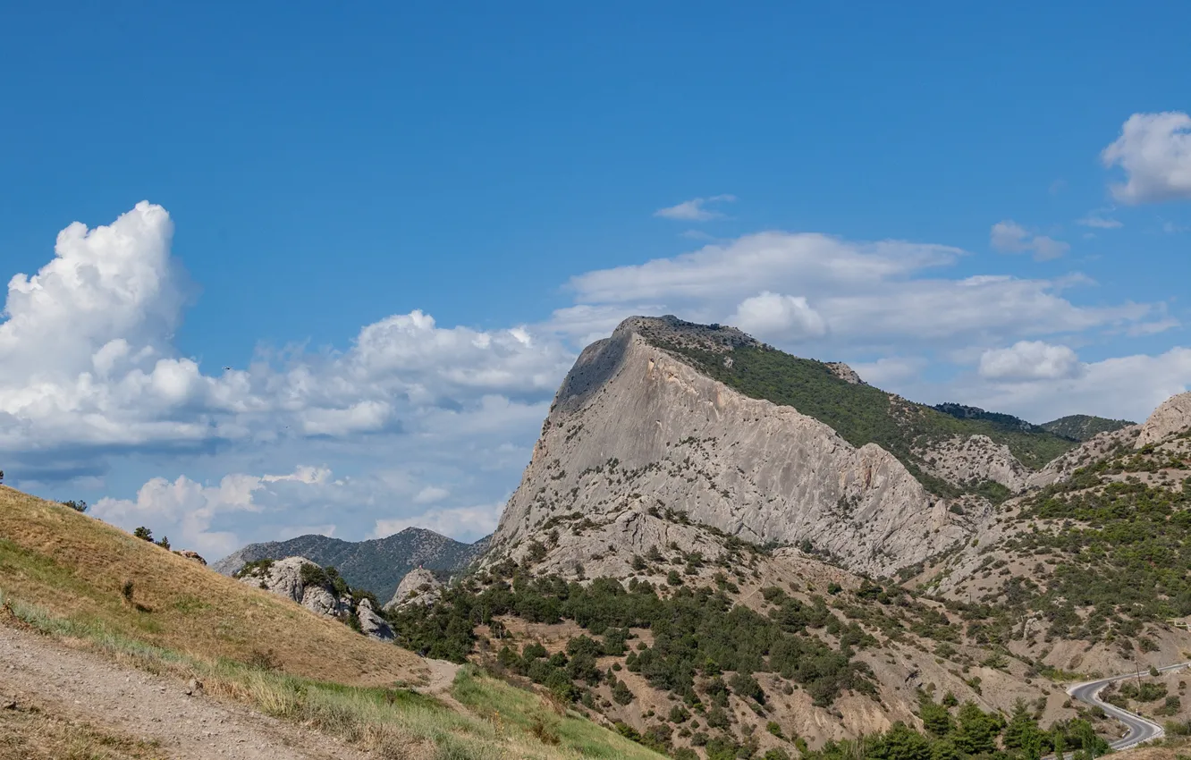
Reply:
[[[20,704],[0,710],[0,760],[157,760],[154,743],[68,717],[58,705]]]

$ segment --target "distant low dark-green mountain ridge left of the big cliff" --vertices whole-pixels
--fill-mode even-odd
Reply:
[[[231,575],[248,562],[303,556],[323,567],[335,567],[353,587],[387,599],[410,571],[424,567],[444,575],[456,573],[482,554],[487,542],[481,538],[472,544],[462,543],[423,528],[406,528],[386,538],[358,542],[307,535],[250,543],[212,567]]]

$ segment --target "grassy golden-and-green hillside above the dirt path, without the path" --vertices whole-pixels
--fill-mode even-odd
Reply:
[[[660,756],[573,710],[468,669],[441,685],[443,699],[410,691],[430,675],[413,653],[0,486],[2,624],[30,627],[182,680],[199,677],[211,694],[339,736],[376,756]],[[36,727],[25,728],[13,735],[25,740]],[[137,752],[130,746],[113,756]]]

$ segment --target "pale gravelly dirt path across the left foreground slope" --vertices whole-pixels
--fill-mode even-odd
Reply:
[[[124,669],[37,634],[0,625],[0,703],[32,698],[63,717],[111,727],[160,742],[176,760],[363,760],[366,755],[323,734]],[[2,716],[0,716],[2,719]]]

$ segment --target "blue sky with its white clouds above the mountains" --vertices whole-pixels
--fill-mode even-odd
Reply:
[[[1191,384],[1185,4],[566,5],[6,11],[7,481],[478,537],[635,312],[1035,421]]]

